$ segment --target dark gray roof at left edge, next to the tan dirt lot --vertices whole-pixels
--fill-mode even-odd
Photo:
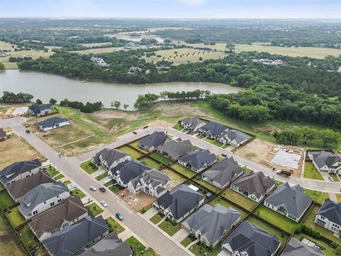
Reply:
[[[17,161],[0,171],[0,181],[5,184],[16,176],[25,173],[26,171],[31,171],[41,166],[38,159],[32,161]]]

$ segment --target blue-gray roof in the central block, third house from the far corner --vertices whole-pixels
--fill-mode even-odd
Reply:
[[[184,163],[190,164],[190,166],[193,166],[195,169],[198,170],[205,166],[205,164],[207,164],[207,166],[210,166],[217,160],[217,156],[211,153],[211,151],[208,149],[197,149],[193,153],[181,156],[179,160],[183,161]]]

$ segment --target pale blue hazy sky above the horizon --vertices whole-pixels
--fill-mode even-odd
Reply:
[[[0,0],[0,17],[341,18],[341,0]]]

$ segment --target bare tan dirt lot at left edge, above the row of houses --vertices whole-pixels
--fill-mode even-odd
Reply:
[[[5,139],[4,142],[0,142],[0,170],[16,161],[37,158],[43,160],[43,156],[29,146],[21,137],[13,135],[9,139]]]

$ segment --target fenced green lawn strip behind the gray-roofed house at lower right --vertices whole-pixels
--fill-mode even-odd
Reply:
[[[293,233],[298,226],[298,223],[295,221],[290,220],[289,218],[286,218],[286,216],[276,213],[274,210],[263,205],[257,207],[256,210],[254,210],[254,213],[264,220],[269,221],[269,223],[276,225],[278,228],[286,230],[288,233]]]

